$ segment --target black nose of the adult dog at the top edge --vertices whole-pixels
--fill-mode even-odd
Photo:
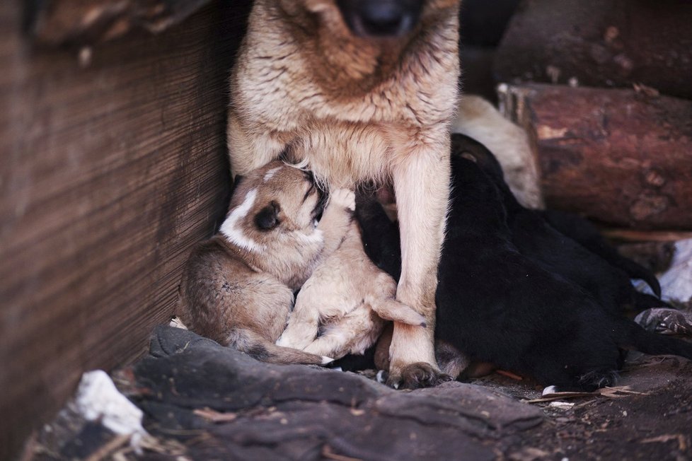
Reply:
[[[397,37],[415,27],[423,0],[337,0],[337,4],[356,35]]]

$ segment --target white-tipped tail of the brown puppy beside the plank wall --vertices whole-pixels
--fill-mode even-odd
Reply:
[[[236,329],[231,333],[231,346],[248,356],[267,363],[303,363],[304,365],[327,365],[333,358],[310,354],[292,347],[277,346],[249,329]]]

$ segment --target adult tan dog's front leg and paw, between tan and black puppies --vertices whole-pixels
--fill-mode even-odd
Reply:
[[[434,325],[437,264],[449,201],[450,146],[449,135],[436,139],[439,142],[422,141],[399,151],[392,170],[401,233],[402,272],[396,298],[427,323],[421,327],[395,322],[388,378],[394,387],[412,389],[449,380],[435,361]]]

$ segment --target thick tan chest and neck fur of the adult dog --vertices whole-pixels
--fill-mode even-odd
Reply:
[[[386,73],[374,57],[371,74],[338,76],[337,84],[324,76],[318,42],[301,40],[259,3],[231,84],[246,132],[292,145],[292,160],[333,187],[380,180],[396,156],[446,137],[458,93],[455,18],[414,37]],[[267,23],[275,25],[271,33],[253,27]]]

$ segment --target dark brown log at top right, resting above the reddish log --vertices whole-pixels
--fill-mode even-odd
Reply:
[[[568,83],[692,98],[692,2],[524,0],[495,60],[498,81]]]

